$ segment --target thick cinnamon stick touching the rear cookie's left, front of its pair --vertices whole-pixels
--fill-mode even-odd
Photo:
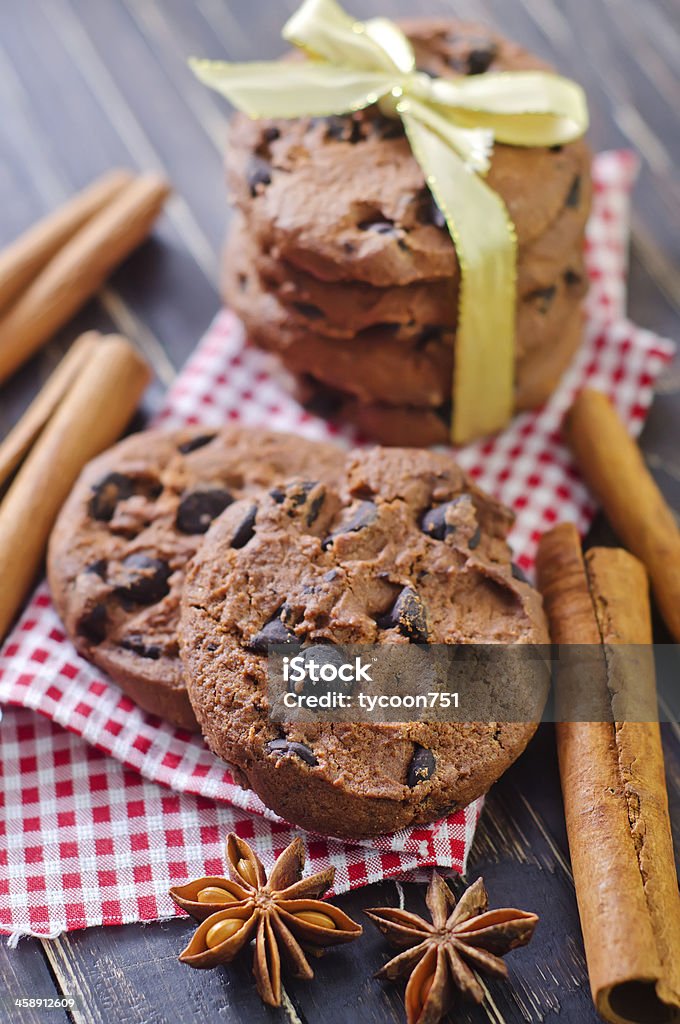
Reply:
[[[102,338],[14,478],[0,505],[0,640],[78,474],[121,435],[150,378],[125,338]]]

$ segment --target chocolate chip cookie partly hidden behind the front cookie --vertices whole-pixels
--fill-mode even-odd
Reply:
[[[177,640],[187,561],[235,503],[238,549],[252,537],[263,488],[291,474],[315,486],[339,472],[343,458],[333,445],[290,434],[194,427],[134,434],[95,459],[60,513],[48,554],[54,603],[79,652],[146,711],[196,729]]]

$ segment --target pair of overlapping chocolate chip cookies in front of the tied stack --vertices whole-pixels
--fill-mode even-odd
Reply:
[[[238,427],[148,431],[83,471],[52,534],[49,582],[78,651],[142,708],[200,727],[289,821],[370,836],[485,793],[536,721],[282,721],[269,647],[342,660],[348,644],[547,643],[511,523],[449,455],[347,454]],[[514,685],[504,673],[504,707]],[[540,718],[545,689],[537,698]]]

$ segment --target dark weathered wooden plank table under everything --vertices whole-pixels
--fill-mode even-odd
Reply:
[[[349,3],[349,0],[347,0]],[[82,329],[118,329],[157,372],[148,407],[219,305],[218,256],[227,218],[222,183],[225,105],[187,72],[188,54],[248,59],[281,51],[293,0],[23,0],[0,3],[0,243],[114,165],[163,169],[177,190],[155,239],[67,330],[0,391],[0,433]],[[587,88],[597,148],[644,155],[635,193],[630,311],[680,337],[680,6],[678,0],[354,0],[360,16],[457,13],[496,24]],[[680,364],[663,379],[643,443],[680,509]],[[606,524],[598,540],[611,540]],[[660,639],[663,639],[663,631]],[[680,730],[664,726],[671,807],[680,842]],[[0,754],[1,756],[1,754]],[[680,852],[680,851],[679,851]],[[497,905],[542,918],[530,947],[509,958],[510,984],[490,984],[483,1008],[460,1022],[587,1024],[592,1009],[562,818],[552,730],[495,786],[468,878],[483,874]],[[406,887],[408,905],[422,905]],[[393,884],[345,896],[394,903]],[[16,1010],[16,995],[72,995],[76,1021],[395,1022],[401,991],[371,977],[385,946],[369,928],[359,944],[314,965],[313,983],[288,983],[280,1012],[263,1008],[247,959],[193,972],[176,962],[190,925],[90,929],[51,942],[0,945],[0,1016],[63,1022],[63,1011]]]

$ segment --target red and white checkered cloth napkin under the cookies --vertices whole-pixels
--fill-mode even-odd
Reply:
[[[460,461],[517,512],[512,542],[530,568],[540,534],[557,519],[585,529],[594,507],[558,428],[585,381],[603,388],[638,433],[673,345],[625,318],[629,154],[595,163],[588,260],[593,287],[582,352],[545,409],[518,417]],[[269,356],[244,349],[229,313],[216,319],[167,396],[160,422],[265,423],[310,437],[353,438],[304,413]],[[256,456],[256,453],[254,453]],[[65,638],[38,588],[0,652],[0,931],[55,935],[88,925],[177,912],[171,884],[223,870],[229,829],[270,865],[293,829],[196,736],[143,714]],[[40,715],[35,715],[35,711]],[[159,784],[162,783],[162,784]],[[333,863],[336,892],[432,864],[461,870],[481,802],[435,825],[362,843],[306,835],[309,870]]]

